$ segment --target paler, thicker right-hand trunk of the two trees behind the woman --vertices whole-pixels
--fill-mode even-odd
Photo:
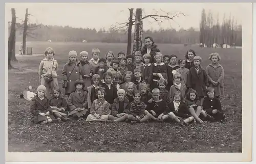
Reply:
[[[133,56],[135,54],[135,51],[141,50],[141,47],[142,47],[142,33],[143,33],[142,9],[136,9],[135,27],[134,27]]]

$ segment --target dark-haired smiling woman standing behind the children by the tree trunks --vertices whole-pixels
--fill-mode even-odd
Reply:
[[[155,44],[154,40],[152,37],[145,37],[144,39],[144,45],[143,47],[141,48],[141,54],[142,56],[145,54],[145,53],[148,53],[151,55],[151,63],[154,63],[156,62],[154,59],[154,56],[156,55],[157,52],[160,52],[160,50],[157,48],[157,45]]]

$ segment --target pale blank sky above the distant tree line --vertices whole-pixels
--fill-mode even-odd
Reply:
[[[17,22],[25,18],[26,8],[30,23],[42,23],[45,25],[72,26],[74,28],[100,28],[108,30],[112,25],[126,22],[129,17],[128,8],[143,8],[143,15],[170,13],[184,13],[186,16],[176,17],[173,21],[163,21],[160,25],[153,19],[143,20],[143,29],[158,30],[174,28],[199,29],[202,9],[206,13],[211,11],[217,19],[219,13],[220,23],[224,14],[229,18],[234,17],[238,24],[242,24],[242,3],[6,3],[6,23],[11,21],[11,8],[15,8]],[[164,11],[164,12],[161,12]]]

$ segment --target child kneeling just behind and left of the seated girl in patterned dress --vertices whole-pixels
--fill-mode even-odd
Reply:
[[[92,82],[93,85],[88,87],[88,96],[87,96],[87,102],[88,102],[88,108],[92,106],[92,103],[94,100],[96,100],[96,90],[100,87],[100,76],[98,74],[94,74],[92,76]]]

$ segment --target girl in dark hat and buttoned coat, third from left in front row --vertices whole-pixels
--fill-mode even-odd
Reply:
[[[82,117],[86,118],[88,115],[88,93],[83,89],[83,80],[76,80],[74,86],[76,90],[69,95],[68,105],[70,112],[68,117],[73,117],[75,119]]]

